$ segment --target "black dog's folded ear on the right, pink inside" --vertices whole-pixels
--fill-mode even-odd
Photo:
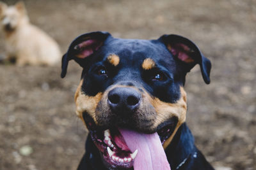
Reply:
[[[175,59],[184,63],[186,71],[189,72],[196,64],[199,64],[205,83],[210,83],[211,61],[204,57],[195,43],[174,34],[163,35],[158,40],[164,43]]]

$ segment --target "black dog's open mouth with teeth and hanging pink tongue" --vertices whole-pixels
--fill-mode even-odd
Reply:
[[[156,164],[160,164],[159,160],[163,164],[168,164],[163,144],[172,135],[175,125],[173,122],[166,124],[153,134],[143,134],[120,127],[111,127],[104,131],[92,131],[90,130],[90,125],[87,125],[87,127],[90,130],[90,136],[95,146],[102,154],[106,166],[114,169],[132,169],[132,167],[134,169],[141,169],[141,167],[147,169],[145,165],[140,167],[140,164],[143,164],[143,160],[147,159],[145,157],[150,157],[148,158],[150,159],[150,164],[155,164],[156,162]],[[159,141],[158,145],[156,140]],[[159,150],[162,150],[162,153],[156,153]]]

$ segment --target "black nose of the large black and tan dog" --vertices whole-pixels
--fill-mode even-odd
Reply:
[[[140,93],[131,87],[116,87],[108,94],[108,104],[115,114],[131,114],[140,105]]]

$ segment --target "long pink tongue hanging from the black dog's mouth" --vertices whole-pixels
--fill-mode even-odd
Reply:
[[[118,130],[131,152],[138,149],[138,154],[134,159],[134,170],[171,169],[157,132],[143,134],[127,129]]]

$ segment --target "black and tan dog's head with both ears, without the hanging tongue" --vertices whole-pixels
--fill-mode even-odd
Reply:
[[[111,169],[132,167],[137,153],[125,143],[122,129],[157,134],[163,148],[170,144],[186,120],[183,87],[195,64],[205,83],[210,81],[211,62],[177,35],[139,40],[113,38],[108,32],[83,34],[63,56],[62,77],[70,59],[83,67],[75,94],[77,116]]]

